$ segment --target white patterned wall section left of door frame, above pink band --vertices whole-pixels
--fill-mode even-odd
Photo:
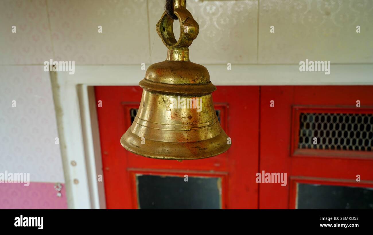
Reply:
[[[49,74],[41,65],[0,66],[0,83],[0,172],[63,183]]]

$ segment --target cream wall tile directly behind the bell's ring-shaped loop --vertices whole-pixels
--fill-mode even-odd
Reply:
[[[257,1],[192,1],[186,8],[200,26],[189,47],[190,59],[199,64],[256,63]],[[151,62],[166,59],[167,48],[156,32],[164,1],[149,0]],[[174,21],[175,35],[179,24]],[[177,36],[176,36],[177,37]]]

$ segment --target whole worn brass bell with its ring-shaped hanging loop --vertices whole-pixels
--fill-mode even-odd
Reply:
[[[211,93],[216,87],[207,69],[189,61],[189,46],[198,23],[185,0],[174,0],[180,38],[166,12],[156,30],[167,46],[167,59],[150,65],[139,85],[143,88],[137,116],[120,139],[128,151],[144,157],[192,160],[213,157],[230,147],[217,119]]]

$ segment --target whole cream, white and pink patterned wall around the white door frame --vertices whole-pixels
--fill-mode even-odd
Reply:
[[[32,182],[46,184],[32,189],[1,184],[0,208],[65,206],[61,204],[65,199],[56,201],[53,187],[47,186],[63,183],[64,178],[60,146],[54,144],[57,128],[50,78],[43,62],[163,61],[166,47],[155,30],[163,3],[0,0],[0,172],[29,172]],[[373,63],[373,0],[187,0],[187,8],[200,25],[190,47],[193,62],[282,65],[308,58]],[[177,21],[174,28],[177,34]],[[34,195],[33,190],[41,191],[44,202],[19,196]]]

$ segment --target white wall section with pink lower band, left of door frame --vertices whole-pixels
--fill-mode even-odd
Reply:
[[[67,208],[65,191],[54,189],[65,180],[49,74],[42,65],[0,66],[0,84],[0,173],[31,181],[0,183],[0,209]]]

